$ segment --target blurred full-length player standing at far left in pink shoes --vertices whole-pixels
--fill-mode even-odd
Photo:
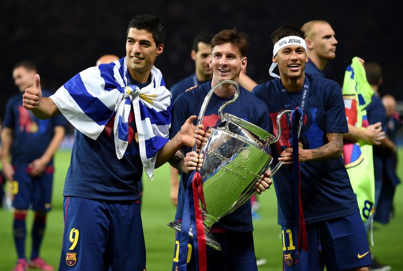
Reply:
[[[39,256],[46,226],[46,214],[51,209],[53,155],[64,137],[66,120],[57,116],[49,120],[35,117],[22,105],[25,89],[35,84],[36,66],[22,61],[14,66],[13,79],[20,93],[7,103],[2,130],[2,163],[6,178],[12,181],[14,224],[13,235],[17,248],[15,271],[27,267],[53,270]],[[44,91],[44,96],[51,93]],[[11,156],[11,163],[9,158]],[[30,261],[25,258],[27,210],[32,205],[32,251]]]

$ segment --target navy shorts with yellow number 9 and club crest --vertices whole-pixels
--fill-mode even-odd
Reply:
[[[140,204],[64,197],[59,270],[146,269]]]

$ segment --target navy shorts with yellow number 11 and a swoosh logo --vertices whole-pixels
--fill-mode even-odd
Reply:
[[[282,226],[283,266],[287,271],[346,270],[372,264],[360,213],[306,226],[308,251],[297,254],[296,227]],[[298,263],[296,263],[298,259]]]

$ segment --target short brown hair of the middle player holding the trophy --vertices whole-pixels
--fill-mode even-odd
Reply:
[[[221,30],[211,40],[211,49],[213,51],[216,45],[231,43],[239,49],[241,56],[245,56],[249,47],[248,36],[243,32],[238,32],[236,28]]]

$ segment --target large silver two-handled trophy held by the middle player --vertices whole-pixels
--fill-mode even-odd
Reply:
[[[206,201],[206,210],[201,205],[206,244],[217,250],[221,250],[221,245],[213,238],[211,227],[225,215],[234,212],[255,193],[256,182],[274,160],[268,153],[268,147],[281,137],[281,117],[285,113],[291,112],[291,110],[283,110],[277,116],[278,134],[276,137],[237,116],[223,114],[223,109],[235,102],[240,94],[238,84],[226,80],[218,83],[207,94],[201,105],[196,127],[203,121],[214,90],[223,84],[233,84],[235,95],[218,110],[221,122],[212,127],[211,135],[201,149],[201,154],[204,154],[204,162],[200,168]],[[193,151],[196,151],[196,147],[195,144]],[[280,162],[276,165],[271,176],[278,171],[282,164]],[[168,226],[181,231],[179,222],[170,222]],[[191,228],[189,236],[193,237]]]

